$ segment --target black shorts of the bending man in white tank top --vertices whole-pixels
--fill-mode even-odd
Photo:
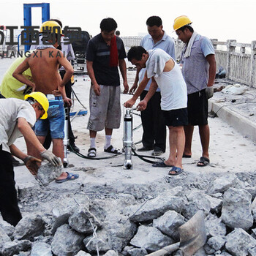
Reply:
[[[187,108],[162,110],[162,113],[167,127],[180,127],[188,124]]]

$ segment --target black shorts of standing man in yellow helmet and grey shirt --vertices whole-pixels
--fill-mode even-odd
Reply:
[[[206,89],[187,96],[187,112],[189,124],[208,124],[208,99],[206,98]]]

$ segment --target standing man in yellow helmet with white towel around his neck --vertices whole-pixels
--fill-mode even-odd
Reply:
[[[184,157],[191,157],[192,135],[194,126],[198,125],[203,149],[197,166],[208,165],[210,129],[208,126],[208,91],[211,91],[216,74],[214,47],[207,37],[197,34],[187,16],[174,20],[173,29],[178,39],[184,42],[181,51],[182,74],[187,84],[187,110],[189,125],[184,127],[186,143]]]

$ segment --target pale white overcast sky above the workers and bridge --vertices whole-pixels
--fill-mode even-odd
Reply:
[[[162,18],[170,37],[173,20],[187,15],[198,34],[211,39],[250,43],[256,40],[255,0],[0,0],[0,25],[23,26],[23,4],[50,3],[50,18],[59,18],[64,26],[81,27],[92,36],[99,34],[103,18],[114,18],[121,37],[146,34],[146,20]],[[32,10],[32,25],[42,23],[40,8]]]

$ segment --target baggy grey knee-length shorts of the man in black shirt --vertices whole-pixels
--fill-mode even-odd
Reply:
[[[102,131],[104,128],[118,129],[121,121],[120,86],[100,85],[100,95],[90,89],[90,118],[87,129]]]

